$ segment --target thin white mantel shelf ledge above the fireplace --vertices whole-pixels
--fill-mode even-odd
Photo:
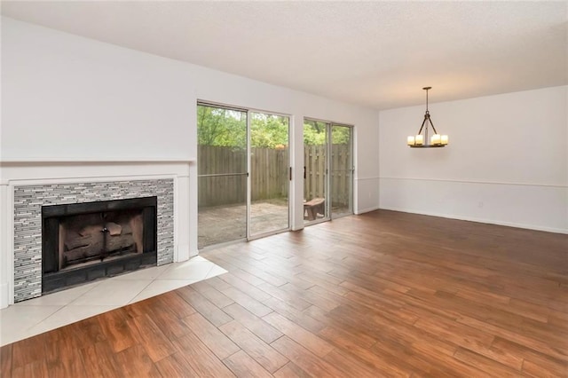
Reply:
[[[114,158],[41,158],[41,157],[21,157],[21,158],[2,158],[0,164],[74,164],[74,163],[190,163],[196,161],[195,158],[149,158],[149,157],[114,157]]]

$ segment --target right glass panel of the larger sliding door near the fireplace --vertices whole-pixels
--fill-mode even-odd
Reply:
[[[250,113],[249,237],[289,228],[286,116]]]

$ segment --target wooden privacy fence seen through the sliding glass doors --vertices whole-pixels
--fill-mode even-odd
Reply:
[[[331,185],[334,205],[348,206],[351,188],[351,155],[348,145],[333,145]],[[325,198],[325,146],[304,146],[306,177],[304,198]],[[247,154],[222,146],[199,146],[198,195],[200,207],[244,204],[247,201]],[[207,161],[206,163],[202,163]],[[288,196],[288,148],[251,148],[252,201]],[[229,175],[231,174],[231,175]],[[216,176],[203,176],[216,175]]]

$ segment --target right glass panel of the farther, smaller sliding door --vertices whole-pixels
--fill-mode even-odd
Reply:
[[[353,161],[351,154],[351,127],[331,125],[331,159],[329,180],[331,185],[331,217],[353,213],[352,186]]]

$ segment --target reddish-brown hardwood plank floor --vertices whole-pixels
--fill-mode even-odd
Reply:
[[[1,376],[568,376],[568,235],[375,211],[0,349]]]

